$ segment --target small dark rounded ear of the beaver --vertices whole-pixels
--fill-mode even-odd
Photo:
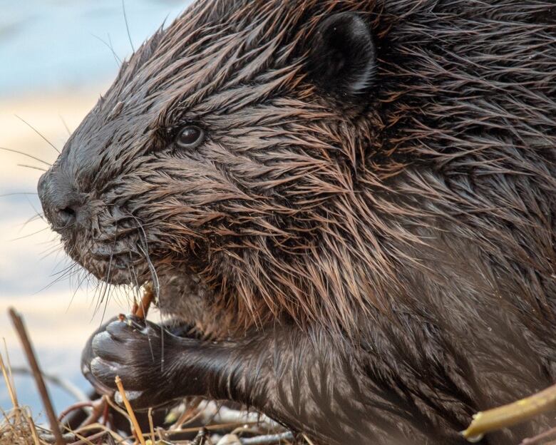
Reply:
[[[369,26],[359,14],[334,14],[309,42],[313,81],[329,93],[356,98],[374,81],[376,53]]]

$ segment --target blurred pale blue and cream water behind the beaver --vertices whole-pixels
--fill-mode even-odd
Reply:
[[[190,0],[127,0],[130,39],[137,48]],[[0,0],[0,147],[52,163],[57,153],[23,119],[61,149],[118,71],[131,44],[120,0]],[[17,117],[19,116],[19,118]],[[66,129],[66,126],[68,130]],[[18,166],[30,165],[34,168]],[[98,289],[68,280],[71,263],[41,211],[36,182],[46,164],[0,150],[0,338],[11,364],[26,366],[19,340],[6,317],[10,306],[25,317],[44,372],[83,391],[79,359],[83,344],[106,317],[128,310],[125,297],[97,308]],[[1,344],[2,351],[4,345]],[[42,411],[34,382],[16,378],[23,404]],[[50,385],[56,409],[74,399]],[[0,408],[11,402],[0,382]],[[41,419],[39,419],[41,421]]]

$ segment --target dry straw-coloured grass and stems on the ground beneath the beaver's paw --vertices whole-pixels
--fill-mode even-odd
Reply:
[[[19,404],[11,373],[11,366],[7,352],[0,354],[0,369],[4,379],[4,385],[9,393],[12,407],[9,411],[0,411],[0,445],[51,445],[56,444],[56,438],[51,431],[36,423],[31,410],[27,406]],[[77,409],[83,403],[75,405]],[[235,411],[214,402],[202,401],[200,399],[191,401],[190,404],[182,404],[170,411],[166,421],[171,421],[171,426],[161,428],[155,426],[149,413],[150,427],[148,431],[140,431],[140,434],[125,435],[122,431],[114,431],[105,425],[103,414],[110,410],[117,411],[128,419],[133,425],[134,413],[130,408],[124,410],[112,400],[105,397],[94,404],[92,416],[78,429],[63,431],[63,442],[70,445],[271,445],[293,444],[293,436],[270,419],[256,413],[247,411]],[[71,408],[71,407],[70,407]],[[95,414],[97,413],[97,414]],[[190,426],[193,421],[201,426]],[[134,428],[130,429],[135,431]],[[201,441],[198,434],[197,442],[173,439],[184,434],[197,434],[206,431]],[[222,431],[227,434],[222,435]],[[217,434],[218,433],[218,434]],[[297,444],[300,442],[297,441]],[[311,445],[309,441],[302,444]]]

